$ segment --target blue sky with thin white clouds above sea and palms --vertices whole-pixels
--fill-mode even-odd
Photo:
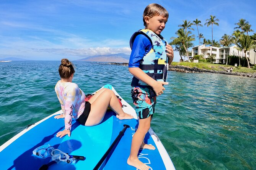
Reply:
[[[142,14],[150,3],[169,12],[161,33],[170,42],[183,20],[202,22],[199,33],[212,38],[211,26],[204,26],[210,15],[219,19],[213,26],[215,40],[233,33],[243,18],[256,31],[255,0],[1,0],[0,59],[70,60],[93,55],[130,55],[131,35],[143,29]],[[194,26],[193,34],[197,36]],[[253,33],[249,33],[252,35]],[[198,45],[198,39],[193,42]],[[179,61],[174,52],[174,61]]]

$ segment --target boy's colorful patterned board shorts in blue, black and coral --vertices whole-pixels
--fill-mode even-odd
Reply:
[[[153,116],[157,97],[155,96],[150,99],[149,88],[132,87],[131,96],[139,119],[145,119],[149,116]]]

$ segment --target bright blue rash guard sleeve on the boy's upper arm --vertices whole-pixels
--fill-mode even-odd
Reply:
[[[130,54],[129,67],[140,67],[140,61],[151,50],[150,40],[143,34],[135,37]]]

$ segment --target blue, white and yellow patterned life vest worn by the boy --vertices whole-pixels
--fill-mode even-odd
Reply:
[[[130,48],[132,48],[135,37],[138,34],[145,35],[151,42],[151,50],[143,57],[140,62],[139,68],[142,69],[148,76],[152,77],[157,81],[166,81],[168,57],[166,55],[166,44],[167,41],[161,35],[155,34],[150,29],[142,29],[135,32],[130,38]],[[131,86],[147,86],[148,84],[142,82],[136,77],[132,78]]]

